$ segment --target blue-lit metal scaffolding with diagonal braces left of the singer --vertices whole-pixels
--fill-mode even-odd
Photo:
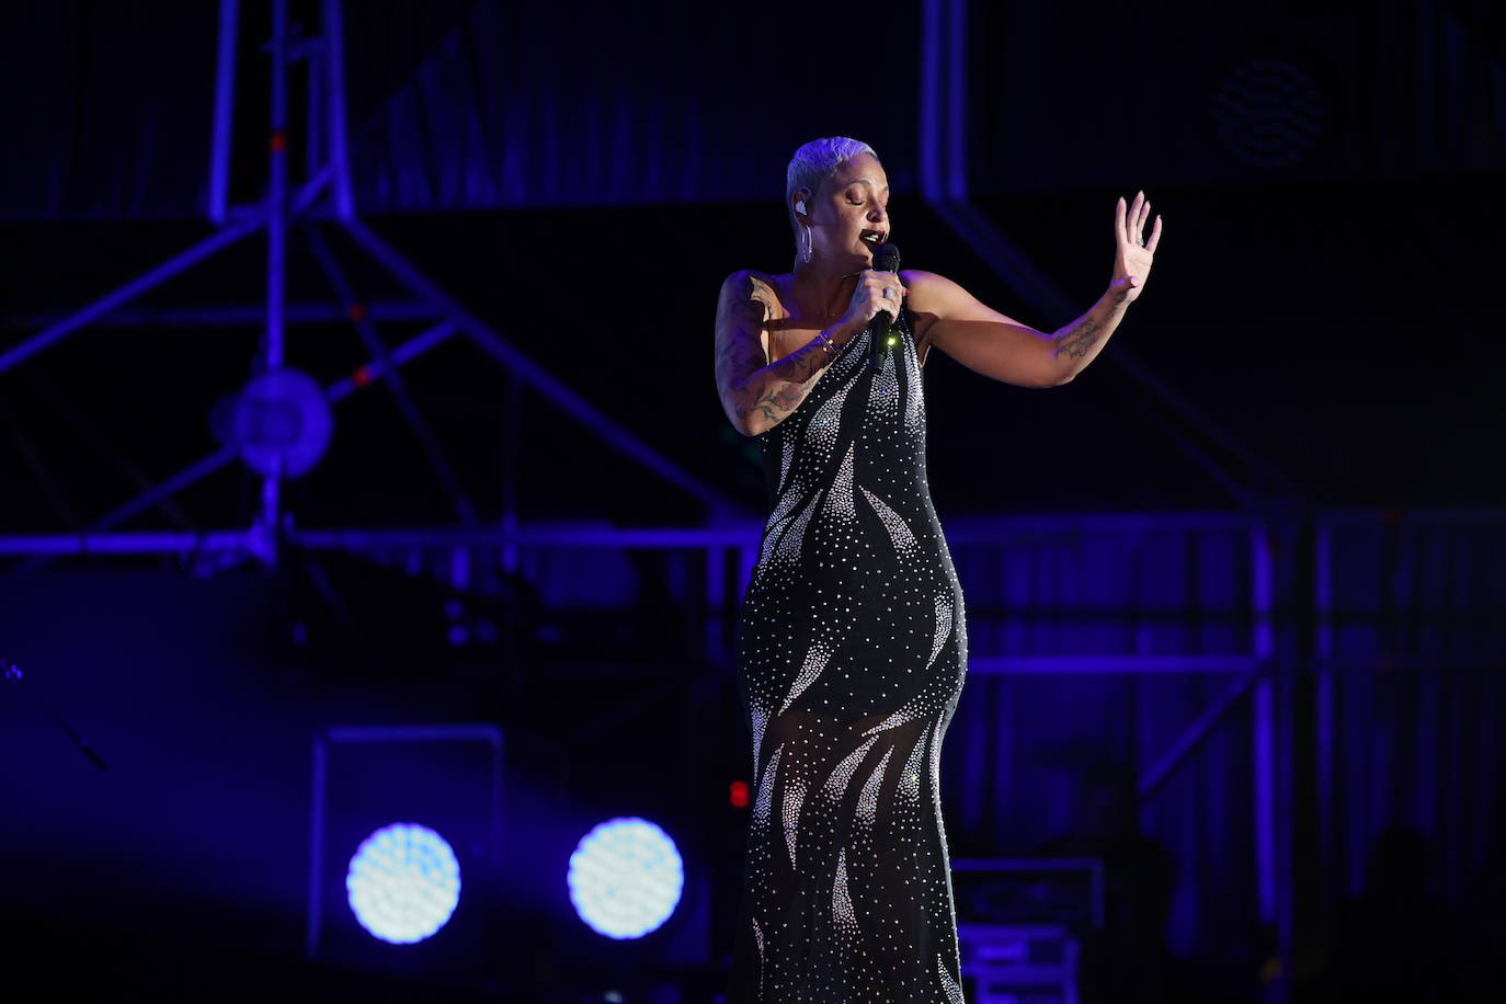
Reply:
[[[514,346],[501,333],[480,321],[444,288],[425,275],[401,251],[376,236],[355,215],[346,158],[345,71],[340,0],[322,0],[319,33],[294,41],[289,35],[288,0],[271,0],[271,27],[265,51],[271,62],[271,114],[267,131],[268,185],[265,196],[253,205],[232,205],[230,137],[233,134],[236,47],[241,32],[238,0],[220,0],[218,57],[215,72],[214,128],[209,152],[208,218],[217,227],[208,238],[169,257],[145,274],[123,283],[93,303],[65,318],[45,324],[33,336],[0,354],[0,375],[44,352],[90,324],[145,325],[194,322],[245,322],[261,319],[265,325],[262,355],[258,369],[274,373],[283,369],[286,328],[289,319],[313,321],[345,318],[355,328],[369,358],[352,367],[352,376],[324,388],[324,399],[336,405],[372,381],[383,381],[393,394],[404,420],[417,437],[425,459],[440,486],[450,498],[459,525],[476,543],[495,533],[517,530],[517,497],[505,492],[500,531],[491,530],[476,512],[452,465],[428,424],[419,405],[407,391],[401,369],[441,345],[455,334],[470,339],[506,373],[509,397],[517,399],[521,385],[536,391],[551,406],[583,424],[604,444],[649,470],[676,489],[699,500],[714,522],[736,521],[744,533],[756,534],[758,524],[747,507],[724,492],[703,483],[681,465],[623,429],[584,396],[568,387]],[[301,63],[309,81],[309,166],[303,184],[289,182],[288,83],[294,63]],[[343,230],[354,245],[378,263],[411,300],[369,306],[357,298],[345,269],[321,236],[321,224]],[[265,304],[258,307],[223,307],[214,310],[123,310],[136,298],[169,278],[187,272],[218,251],[255,233],[267,235]],[[301,236],[333,292],[330,304],[289,304],[286,297],[288,242]],[[387,349],[376,331],[380,321],[432,319],[426,331]],[[202,533],[114,533],[131,518],[161,506],[190,485],[230,465],[236,459],[233,447],[221,447],[196,464],[178,471],[123,501],[75,534],[29,534],[0,537],[0,554],[29,557],[18,570],[38,567],[47,557],[65,554],[185,554],[200,557],[226,554],[256,557],[268,564],[277,561],[282,542],[303,548],[319,540],[345,540],[339,530],[298,530],[286,518],[282,498],[285,476],[271,471],[262,477],[259,515],[250,527],[220,528]],[[399,531],[407,539],[426,540],[429,546],[461,546],[449,530]],[[476,536],[479,534],[479,536]],[[343,546],[343,545],[342,545]],[[505,546],[514,548],[511,537]]]

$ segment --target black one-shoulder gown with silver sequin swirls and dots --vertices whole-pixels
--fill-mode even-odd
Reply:
[[[908,312],[902,312],[908,315]],[[962,592],[908,316],[759,437],[774,504],[742,604],[753,811],[727,1004],[961,1004],[941,739]]]

